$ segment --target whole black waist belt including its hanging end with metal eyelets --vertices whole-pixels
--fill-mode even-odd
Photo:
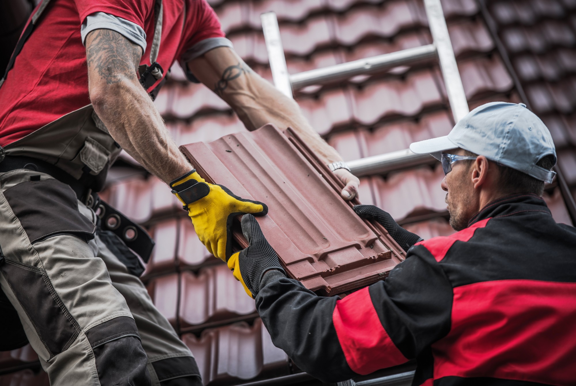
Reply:
[[[6,156],[4,160],[0,162],[0,173],[10,172],[14,169],[29,169],[35,172],[46,173],[60,182],[69,185],[81,202],[96,211],[98,218],[100,218],[98,226],[100,226],[101,229],[111,230],[124,241],[124,244],[126,244],[128,248],[138,253],[145,263],[148,262],[152,248],[154,248],[154,240],[150,238],[146,230],[138,224],[135,224],[135,222],[132,222],[112,206],[109,206],[103,200],[100,200],[97,194],[93,194],[90,188],[86,187],[73,176],[58,168],[58,166],[32,157]]]

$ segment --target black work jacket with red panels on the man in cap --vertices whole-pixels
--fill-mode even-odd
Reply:
[[[576,385],[576,228],[543,199],[495,200],[407,256],[342,299],[265,276],[272,342],[326,382],[415,359],[413,385]]]

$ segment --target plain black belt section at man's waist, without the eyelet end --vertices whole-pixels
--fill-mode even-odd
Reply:
[[[73,176],[69,175],[58,166],[48,164],[48,162],[39,160],[38,158],[5,156],[4,160],[0,162],[0,173],[13,171],[14,169],[29,169],[35,172],[49,174],[56,180],[69,185],[77,198],[84,203],[86,203],[86,199],[88,198],[87,196],[90,194],[90,189]]]

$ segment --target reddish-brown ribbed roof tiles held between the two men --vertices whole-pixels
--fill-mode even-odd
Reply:
[[[385,278],[404,251],[379,224],[354,213],[342,183],[288,128],[272,124],[214,142],[181,146],[207,181],[266,202],[258,218],[286,273],[320,294],[339,294]],[[237,224],[237,250],[248,246]]]

